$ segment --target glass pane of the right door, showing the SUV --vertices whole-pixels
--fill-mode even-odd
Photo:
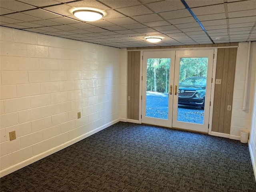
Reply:
[[[208,58],[180,58],[178,121],[204,124]]]

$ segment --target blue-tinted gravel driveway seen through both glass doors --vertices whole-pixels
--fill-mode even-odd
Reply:
[[[146,116],[168,118],[168,93],[147,92]],[[201,107],[178,105],[178,121],[204,123],[204,110]]]

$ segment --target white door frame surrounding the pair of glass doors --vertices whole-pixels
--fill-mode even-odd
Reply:
[[[216,80],[216,65],[217,65],[217,54],[218,54],[218,48],[212,48],[212,47],[205,47],[205,48],[174,48],[174,49],[159,49],[159,50],[140,50],[140,100],[139,100],[139,123],[142,123],[142,65],[143,65],[143,52],[144,51],[164,51],[164,50],[205,50],[205,49],[214,49],[214,58],[213,58],[213,66],[212,66],[212,88],[211,88],[211,98],[210,98],[210,113],[209,113],[209,129],[208,134],[211,135],[212,133],[212,115],[213,115],[213,106],[214,106],[214,90],[215,90],[215,80]]]

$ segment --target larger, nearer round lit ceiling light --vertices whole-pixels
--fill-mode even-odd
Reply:
[[[96,21],[104,16],[101,12],[94,10],[75,10],[73,15],[83,21]]]

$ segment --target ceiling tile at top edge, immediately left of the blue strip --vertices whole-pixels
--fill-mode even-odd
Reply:
[[[181,1],[161,1],[156,3],[150,3],[146,6],[148,6],[157,13],[170,10],[181,10],[185,8],[184,4]]]

